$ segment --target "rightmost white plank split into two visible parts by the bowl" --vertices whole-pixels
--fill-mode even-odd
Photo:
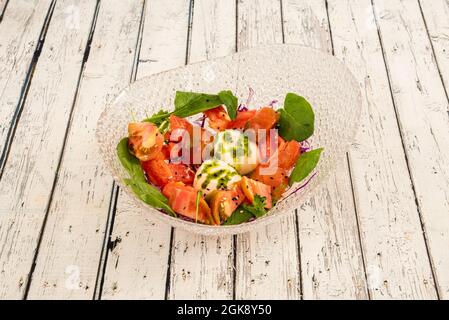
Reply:
[[[284,0],[286,43],[332,52],[325,1]],[[347,162],[298,209],[304,299],[367,299]]]

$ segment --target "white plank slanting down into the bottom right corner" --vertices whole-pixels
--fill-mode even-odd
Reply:
[[[449,298],[448,99],[418,2],[374,7],[437,289]]]

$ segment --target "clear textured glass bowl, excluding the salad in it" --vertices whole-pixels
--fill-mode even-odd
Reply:
[[[267,105],[273,100],[278,100],[282,106],[288,92],[302,95],[312,104],[315,134],[309,141],[312,147],[324,147],[324,152],[317,175],[307,187],[288,196],[298,187],[294,185],[286,192],[286,198],[262,218],[235,226],[207,226],[170,217],[137,199],[123,184],[128,174],[116,156],[116,146],[127,135],[131,119],[143,119],[160,109],[172,110],[177,90],[217,93],[229,89],[244,102],[249,87],[255,92],[250,108]],[[359,85],[339,60],[311,48],[273,45],[187,65],[134,82],[105,107],[98,120],[96,136],[102,158],[114,179],[136,205],[146,209],[148,217],[200,234],[236,234],[274,222],[323,185],[333,168],[346,161],[345,153],[358,127],[360,109]]]

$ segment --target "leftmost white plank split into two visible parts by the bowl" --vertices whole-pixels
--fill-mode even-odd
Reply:
[[[184,65],[189,2],[152,0],[145,8],[137,78]],[[167,23],[170,21],[170,23]],[[120,192],[102,299],[164,299],[171,227],[153,222]]]

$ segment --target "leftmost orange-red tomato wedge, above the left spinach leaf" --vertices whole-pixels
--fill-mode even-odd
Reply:
[[[131,122],[128,124],[128,136],[128,145],[139,160],[148,161],[159,156],[164,137],[154,124]]]

